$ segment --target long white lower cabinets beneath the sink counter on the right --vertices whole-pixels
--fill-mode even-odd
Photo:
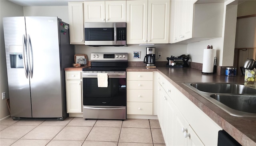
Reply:
[[[158,73],[158,120],[166,146],[216,146],[222,130]]]

